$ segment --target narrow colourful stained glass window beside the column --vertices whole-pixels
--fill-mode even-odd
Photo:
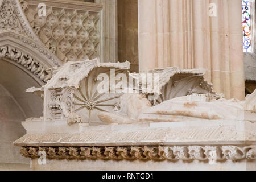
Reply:
[[[243,14],[243,52],[254,52],[251,42],[251,3],[250,0],[242,0]]]

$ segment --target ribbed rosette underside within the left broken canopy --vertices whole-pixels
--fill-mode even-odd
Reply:
[[[84,118],[84,122],[94,123],[100,122],[97,115],[98,113],[104,112],[114,112],[115,107],[117,107],[120,102],[121,93],[111,93],[110,84],[109,85],[109,93],[101,93],[99,92],[99,84],[102,83],[101,80],[97,79],[99,69],[101,72],[110,75],[110,69],[106,68],[97,68],[89,73],[88,77],[86,77],[80,85],[80,88],[77,89],[73,94],[72,102],[73,106],[71,107],[71,113],[75,113]],[[123,69],[115,69],[115,73],[124,72]],[[108,79],[104,80],[104,82],[109,82]],[[117,81],[115,81],[115,84]]]

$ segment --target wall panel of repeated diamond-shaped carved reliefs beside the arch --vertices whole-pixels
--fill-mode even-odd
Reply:
[[[24,9],[35,34],[64,63],[100,58],[102,5],[87,2],[27,1]],[[38,4],[47,6],[39,17]]]

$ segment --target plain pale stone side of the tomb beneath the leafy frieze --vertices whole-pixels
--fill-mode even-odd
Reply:
[[[206,162],[182,162],[177,161],[175,163],[168,161],[143,161],[143,160],[46,160],[46,165],[39,165],[38,159],[32,160],[32,170],[81,170],[81,171],[91,171],[91,170],[135,170],[135,171],[144,171],[144,170],[167,170],[167,171],[176,171],[176,170],[188,170],[188,171],[228,171],[228,170],[254,170],[256,166],[256,161],[243,161],[243,162],[232,162],[228,161],[225,163],[218,163],[216,165],[209,165]]]

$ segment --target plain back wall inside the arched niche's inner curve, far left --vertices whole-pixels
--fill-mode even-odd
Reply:
[[[13,142],[26,134],[20,121],[26,119],[24,111],[13,96],[0,84],[0,168],[1,163],[28,163],[19,154]]]

